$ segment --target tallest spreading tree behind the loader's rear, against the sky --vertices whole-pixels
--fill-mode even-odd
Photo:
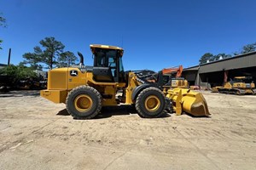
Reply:
[[[45,37],[39,43],[44,49],[36,46],[33,53],[23,54],[24,63],[30,64],[34,69],[42,69],[42,64],[46,65],[46,68],[52,69],[57,64],[56,59],[61,56],[65,46],[56,41],[55,37]]]

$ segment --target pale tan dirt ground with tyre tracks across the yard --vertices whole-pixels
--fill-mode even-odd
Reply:
[[[256,96],[203,92],[211,117],[131,107],[73,120],[38,91],[0,95],[0,169],[256,169]]]

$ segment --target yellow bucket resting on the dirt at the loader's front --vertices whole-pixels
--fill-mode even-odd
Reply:
[[[192,116],[210,116],[207,101],[201,93],[190,89],[174,88],[167,91],[166,97],[172,100],[176,115],[186,112]]]

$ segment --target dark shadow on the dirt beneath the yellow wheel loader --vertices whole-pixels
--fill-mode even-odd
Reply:
[[[111,116],[125,116],[137,114],[134,106],[131,105],[118,105],[118,106],[108,106],[102,107],[102,111],[94,119],[104,119]],[[58,116],[70,116],[67,109],[63,109],[57,113]],[[169,114],[164,114],[160,118],[170,117]]]

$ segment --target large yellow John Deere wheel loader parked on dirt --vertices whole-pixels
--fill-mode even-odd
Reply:
[[[161,91],[161,84],[145,82],[122,64],[124,49],[108,45],[90,45],[93,66],[80,64],[56,68],[48,73],[48,86],[40,95],[55,103],[66,104],[75,119],[95,117],[102,106],[135,105],[139,116],[162,116],[165,111],[185,111],[193,116],[209,116],[206,100],[189,90]],[[117,93],[122,95],[117,97]]]

